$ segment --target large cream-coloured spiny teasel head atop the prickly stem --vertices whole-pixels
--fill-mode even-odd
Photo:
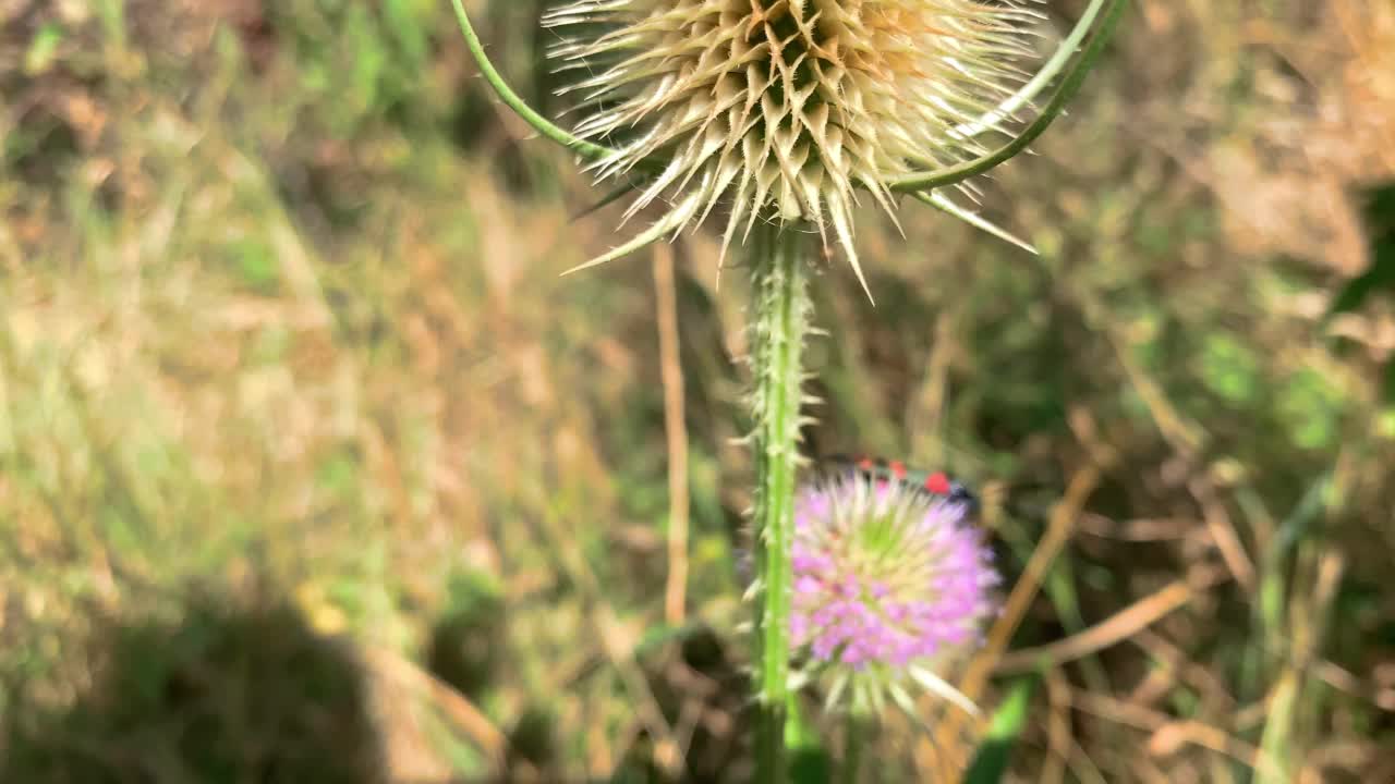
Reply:
[[[858,266],[852,206],[897,176],[982,153],[974,135],[1024,81],[1031,0],[576,0],[547,15],[600,177],[646,174],[653,227],[583,266],[730,205],[723,252],[756,220],[829,230]],[[985,121],[986,120],[986,121]],[[864,283],[865,286],[865,283]]]

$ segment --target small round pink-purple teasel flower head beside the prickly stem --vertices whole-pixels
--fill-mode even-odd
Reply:
[[[974,706],[943,674],[999,610],[992,551],[970,502],[865,474],[820,478],[795,499],[791,649],[831,709],[914,714],[911,691]]]

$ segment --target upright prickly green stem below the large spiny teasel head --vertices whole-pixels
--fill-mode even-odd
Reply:
[[[760,568],[756,617],[757,695],[756,781],[787,778],[785,704],[790,681],[790,552],[799,451],[799,357],[809,329],[808,234],[795,227],[760,226],[752,239],[755,332],[756,509],[755,541]]]

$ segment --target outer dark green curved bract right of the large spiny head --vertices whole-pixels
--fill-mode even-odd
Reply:
[[[1081,17],[1080,24],[1076,25],[1074,35],[1084,35],[1084,32],[1094,24],[1095,17],[1101,13],[1105,3],[1109,1],[1109,8],[1105,11],[1103,21],[1099,22],[1099,29],[1089,39],[1089,45],[1081,52],[1080,59],[1076,66],[1066,74],[1064,81],[1056,93],[1052,95],[1050,102],[1042,109],[1042,113],[1027,126],[1021,134],[1013,138],[1013,141],[1000,146],[999,149],[974,160],[965,160],[964,163],[950,166],[937,172],[928,172],[921,174],[907,174],[903,177],[894,177],[887,184],[893,191],[923,191],[929,188],[942,188],[944,186],[953,186],[961,183],[976,174],[982,174],[989,169],[993,169],[999,163],[1014,158],[1017,153],[1027,149],[1027,145],[1036,141],[1048,127],[1060,116],[1066,105],[1070,103],[1076,93],[1080,92],[1080,86],[1085,82],[1085,75],[1095,66],[1099,59],[1099,53],[1103,52],[1105,45],[1113,35],[1115,28],[1119,25],[1119,18],[1123,15],[1124,7],[1129,4],[1127,0],[1094,0],[1085,14]]]

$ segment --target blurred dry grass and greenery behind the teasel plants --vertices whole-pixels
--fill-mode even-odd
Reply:
[[[540,3],[473,8],[559,109]],[[650,261],[558,279],[618,208],[446,4],[0,31],[0,781],[749,774],[710,236],[674,633]],[[1041,257],[908,204],[861,216],[877,307],[817,262],[810,453],[947,466],[1010,583],[1049,565],[978,663],[1049,663],[1018,780],[1395,781],[1395,6],[1140,0],[1036,152],[983,209]],[[889,727],[886,780],[935,741]]]

